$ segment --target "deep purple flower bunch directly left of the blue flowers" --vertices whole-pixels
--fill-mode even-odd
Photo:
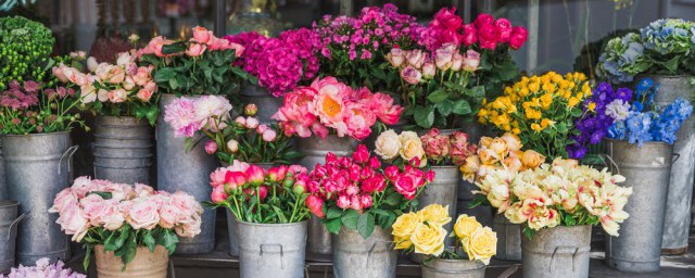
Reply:
[[[579,131],[571,136],[573,143],[567,146],[570,159],[583,159],[590,144],[598,144],[608,135],[608,128],[616,117],[627,116],[629,111],[621,110],[617,104],[628,105],[632,99],[632,90],[628,88],[614,88],[608,83],[602,83],[593,90],[591,98],[583,104],[583,116],[574,122]],[[624,119],[624,118],[622,118]]]

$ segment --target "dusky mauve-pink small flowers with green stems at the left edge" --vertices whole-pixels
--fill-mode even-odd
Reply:
[[[85,77],[76,73],[76,78]],[[84,96],[72,88],[43,88],[33,80],[8,84],[0,93],[0,126],[4,135],[28,135],[70,130],[73,126],[85,126],[77,108]]]

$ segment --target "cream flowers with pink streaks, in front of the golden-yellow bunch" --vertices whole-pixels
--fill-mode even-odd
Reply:
[[[523,233],[555,226],[602,224],[604,230],[618,236],[618,224],[629,217],[623,211],[632,188],[620,187],[620,175],[579,165],[576,160],[555,159],[534,169],[491,170],[480,182],[480,190],[505,217],[525,224]]]

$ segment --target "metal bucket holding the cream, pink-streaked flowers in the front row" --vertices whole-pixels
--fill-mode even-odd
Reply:
[[[591,251],[591,226],[539,230],[521,240],[525,278],[586,278]]]

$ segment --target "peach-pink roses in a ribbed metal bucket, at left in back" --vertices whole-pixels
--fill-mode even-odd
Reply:
[[[138,66],[136,52],[118,53],[115,64],[89,63],[85,79],[68,77],[78,68],[60,64],[53,74],[63,83],[79,86],[80,109],[97,114],[94,177],[118,182],[150,182],[152,128],[159,115],[157,87],[152,65]],[[148,124],[149,123],[149,124]]]

